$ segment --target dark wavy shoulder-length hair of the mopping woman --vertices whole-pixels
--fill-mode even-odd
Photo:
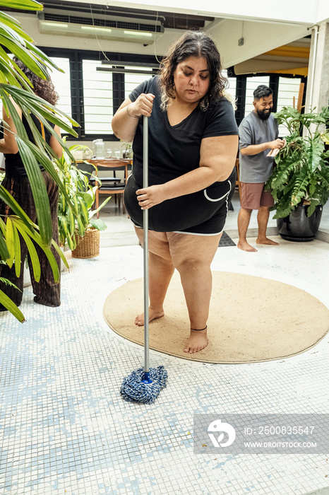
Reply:
[[[160,64],[160,81],[162,86],[162,109],[167,107],[169,98],[175,98],[174,71],[177,64],[189,57],[204,57],[210,72],[210,84],[207,94],[199,103],[206,110],[210,103],[217,103],[227,87],[227,78],[222,76],[220,52],[213,39],[203,31],[186,31],[177,42],[169,48],[167,56]]]

